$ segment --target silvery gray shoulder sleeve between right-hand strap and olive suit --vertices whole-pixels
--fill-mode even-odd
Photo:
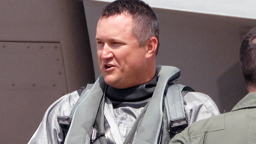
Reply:
[[[188,92],[183,97],[183,101],[188,125],[220,114],[214,101],[206,94]]]

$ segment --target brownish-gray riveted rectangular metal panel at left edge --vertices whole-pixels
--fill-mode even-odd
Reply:
[[[68,92],[60,43],[0,42],[0,46],[0,90],[49,91],[53,86],[54,91]]]

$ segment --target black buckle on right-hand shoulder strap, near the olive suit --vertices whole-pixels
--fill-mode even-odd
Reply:
[[[188,121],[186,117],[180,117],[173,120],[170,120],[169,128],[171,137],[175,136],[177,133],[180,133],[188,126]]]

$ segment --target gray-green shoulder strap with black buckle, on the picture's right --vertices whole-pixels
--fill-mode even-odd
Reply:
[[[164,101],[171,137],[175,136],[188,126],[185,116],[183,96],[189,91],[194,90],[188,86],[175,83],[170,83],[168,85]]]

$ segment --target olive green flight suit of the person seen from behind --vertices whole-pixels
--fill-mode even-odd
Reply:
[[[169,144],[256,144],[256,93],[247,94],[231,112],[191,124]]]

